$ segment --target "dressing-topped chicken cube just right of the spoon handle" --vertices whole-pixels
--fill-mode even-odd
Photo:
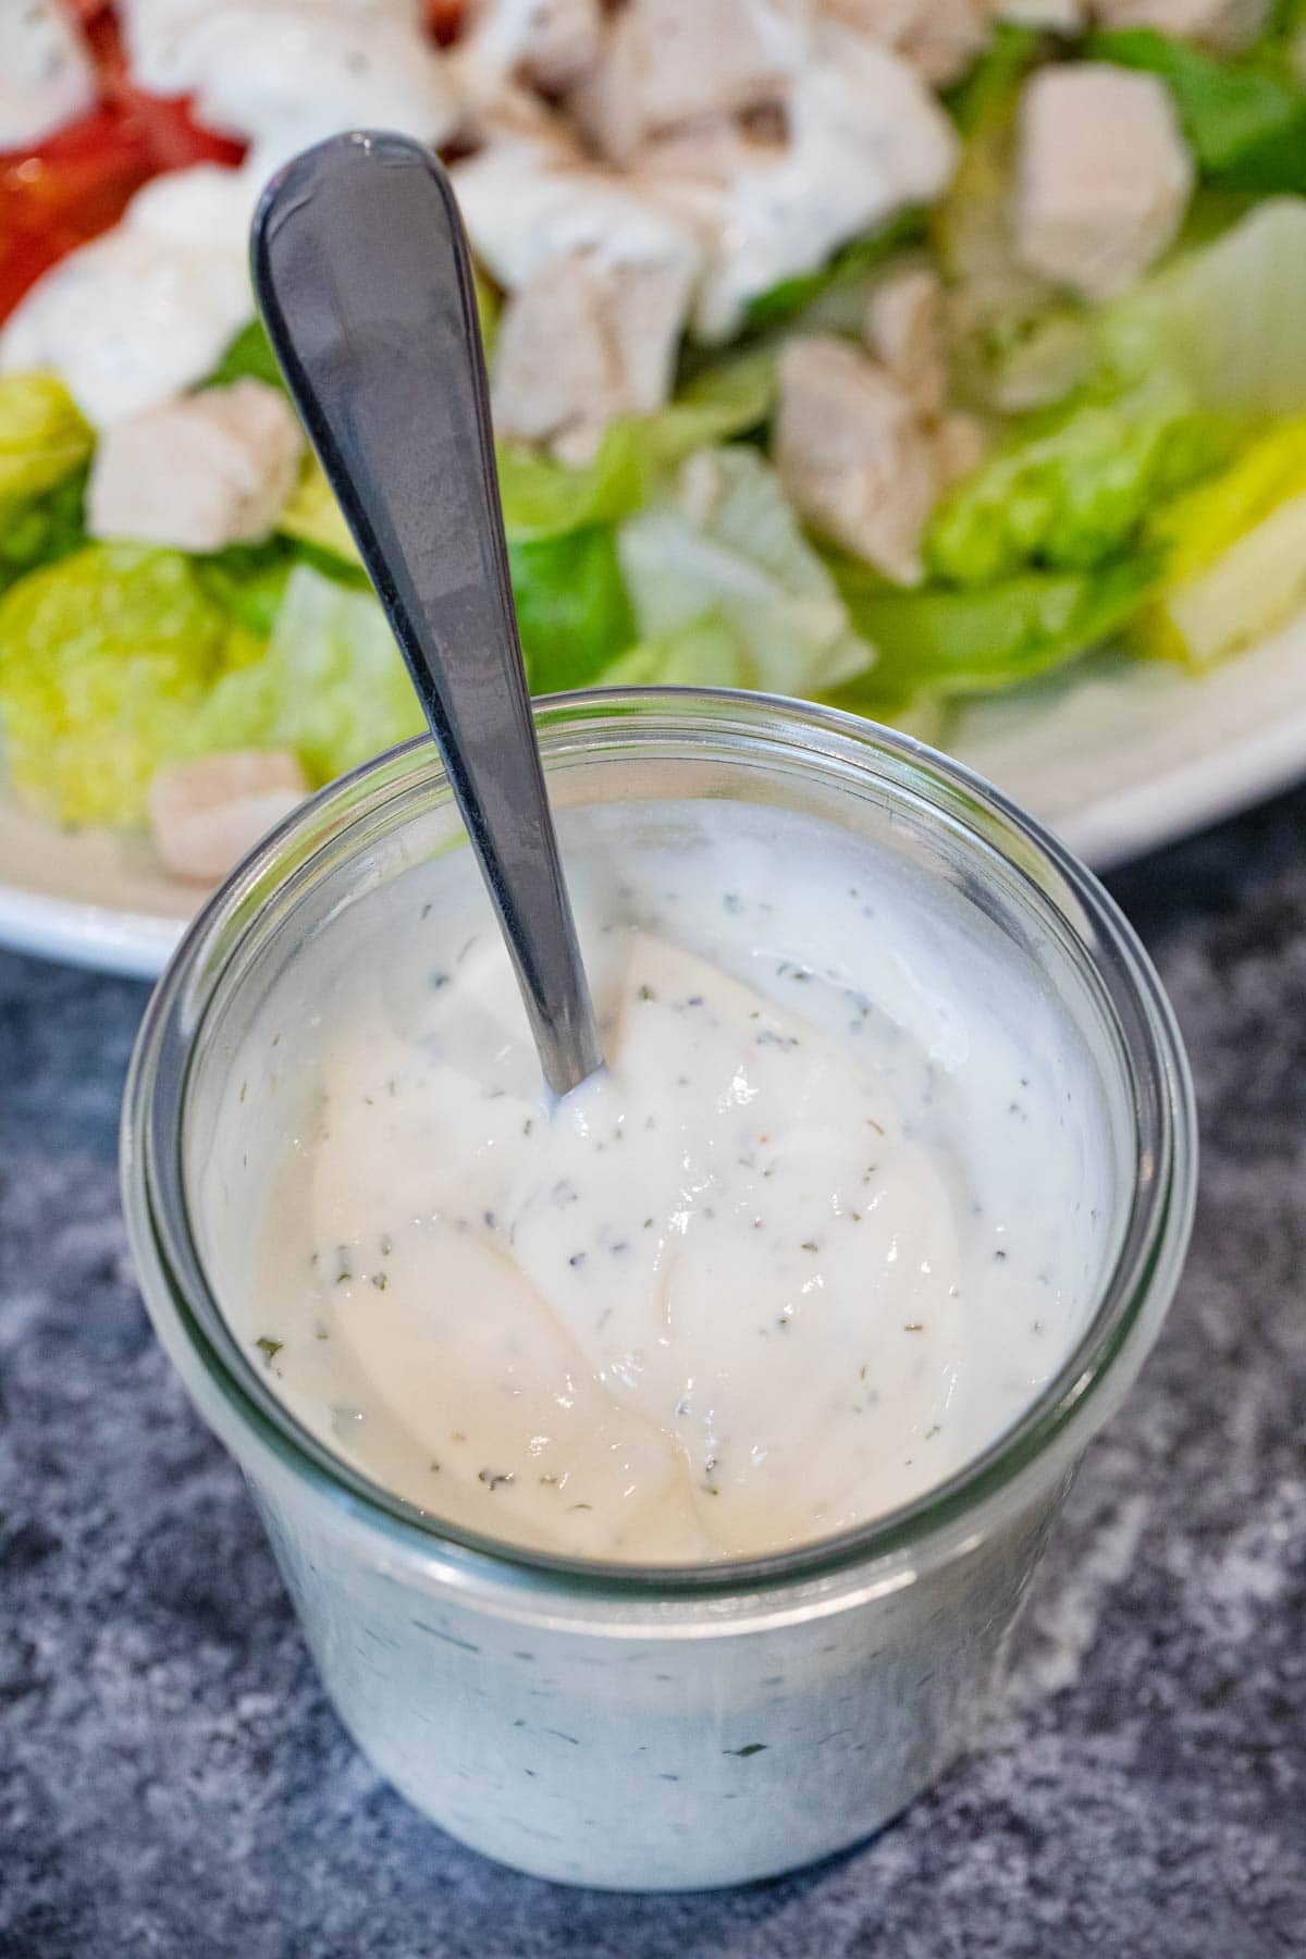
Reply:
[[[646,415],[672,388],[691,268],[599,264],[568,253],[509,298],[493,357],[501,435],[587,460],[617,415]]]

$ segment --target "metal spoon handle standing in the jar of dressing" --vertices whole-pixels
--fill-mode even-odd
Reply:
[[[517,639],[472,266],[399,135],[296,157],[253,231],[258,308],[386,607],[517,968],[544,1079],[601,1066]]]

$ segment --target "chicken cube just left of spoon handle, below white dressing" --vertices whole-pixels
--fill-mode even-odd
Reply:
[[[86,490],[92,537],[223,550],[264,539],[294,490],[303,437],[260,380],[155,407],[106,429]]]

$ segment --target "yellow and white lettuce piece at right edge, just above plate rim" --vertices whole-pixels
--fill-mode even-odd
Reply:
[[[1147,539],[1167,570],[1130,629],[1136,652],[1204,668],[1273,633],[1306,605],[1306,415],[1177,498]]]

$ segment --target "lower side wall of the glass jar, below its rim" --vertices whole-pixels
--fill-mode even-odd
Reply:
[[[394,1787],[474,1849],[562,1883],[773,1877],[879,1830],[973,1740],[1059,1489],[948,1565],[730,1640],[488,1620],[255,1485],[313,1659]]]

